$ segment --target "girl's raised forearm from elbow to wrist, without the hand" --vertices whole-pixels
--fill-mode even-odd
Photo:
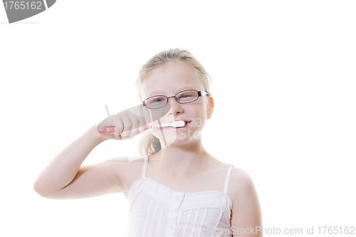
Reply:
[[[36,191],[52,192],[63,189],[78,173],[88,154],[105,139],[100,137],[95,125],[64,148],[43,171],[38,174]]]

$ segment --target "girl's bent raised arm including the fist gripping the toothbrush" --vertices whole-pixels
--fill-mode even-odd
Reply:
[[[115,134],[100,133],[100,128],[112,126]],[[124,175],[125,162],[110,162],[112,159],[109,159],[82,167],[83,161],[106,139],[131,139],[145,131],[145,118],[130,110],[105,118],[63,149],[38,175],[33,189],[49,199],[84,199],[124,190],[119,173]],[[121,159],[127,161],[126,157]]]

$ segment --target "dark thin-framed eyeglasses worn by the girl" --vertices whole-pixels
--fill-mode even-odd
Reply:
[[[168,103],[169,98],[176,98],[179,104],[187,104],[198,100],[200,96],[208,95],[206,91],[198,90],[183,90],[177,93],[174,96],[167,97],[165,95],[155,95],[147,98],[145,101],[142,101],[142,105],[146,106],[149,109],[158,109],[164,107]]]

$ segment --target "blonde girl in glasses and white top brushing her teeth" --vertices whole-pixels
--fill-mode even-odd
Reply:
[[[122,192],[130,205],[127,236],[262,236],[251,177],[213,157],[201,143],[201,131],[214,110],[209,78],[186,50],[157,53],[140,70],[139,97],[152,111],[169,103],[169,112],[159,120],[184,120],[184,127],[147,131],[145,120],[127,110],[112,115],[58,154],[38,175],[35,191],[50,199]],[[108,126],[116,127],[114,135],[98,132]],[[136,158],[142,162],[119,157],[81,166],[101,142],[140,133],[143,158]],[[108,162],[112,160],[126,162]]]

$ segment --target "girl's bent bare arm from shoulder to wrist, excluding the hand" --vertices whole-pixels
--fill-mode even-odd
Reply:
[[[112,159],[82,166],[88,154],[104,140],[95,125],[90,127],[38,174],[33,189],[49,199],[84,199],[121,191],[122,183]]]

